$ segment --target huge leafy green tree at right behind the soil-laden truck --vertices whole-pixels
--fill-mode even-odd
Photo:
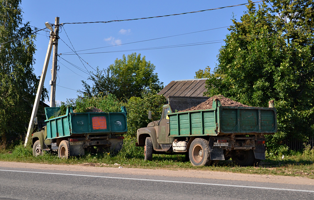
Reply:
[[[247,8],[240,22],[232,19],[206,94],[250,106],[275,100],[279,132],[268,146],[283,145],[287,135],[306,140],[314,133],[314,1],[270,0]]]

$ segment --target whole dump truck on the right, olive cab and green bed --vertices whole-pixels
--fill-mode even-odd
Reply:
[[[171,104],[170,97],[168,101],[160,120],[137,130],[136,145],[145,147],[145,160],[153,154],[185,154],[193,166],[230,158],[240,166],[253,166],[265,159],[264,135],[277,132],[273,102],[270,108],[231,107],[214,99],[211,109],[175,113],[173,108],[180,105]]]

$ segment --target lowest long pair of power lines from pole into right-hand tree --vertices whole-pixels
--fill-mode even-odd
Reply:
[[[314,28],[314,27],[310,27],[310,28],[306,28],[306,29],[312,29],[312,28]],[[295,32],[288,31],[287,33],[301,33],[301,32],[306,32],[306,31],[295,31]],[[274,33],[269,33],[269,34],[260,34],[260,35],[251,35],[251,36],[247,36],[245,38],[241,37],[239,39],[233,39],[233,40],[230,40],[230,41],[239,41],[239,40],[245,40],[245,39],[250,39],[250,38],[263,38],[263,37],[268,37],[269,35],[278,34],[278,33],[280,33],[280,32],[274,32]],[[263,36],[263,35],[266,35],[266,36]],[[168,48],[175,48],[175,47],[185,47],[185,46],[195,46],[195,45],[207,45],[207,44],[221,43],[221,42],[214,42],[214,41],[221,41],[221,40],[224,40],[224,39],[207,41],[207,43],[206,42],[198,42],[198,43],[203,43],[203,44],[190,43],[190,44],[182,44],[182,45],[169,45],[169,46],[160,46],[160,47],[150,47],[150,48],[143,48],[143,49],[105,51],[105,52],[80,53],[80,54],[100,54],[100,53],[127,52],[127,51],[135,51],[135,50],[168,49]],[[63,55],[75,55],[75,54],[63,54]]]

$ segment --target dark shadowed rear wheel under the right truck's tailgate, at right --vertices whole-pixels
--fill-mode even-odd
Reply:
[[[253,150],[241,150],[238,154],[231,152],[231,159],[236,165],[240,166],[253,166],[255,156]]]

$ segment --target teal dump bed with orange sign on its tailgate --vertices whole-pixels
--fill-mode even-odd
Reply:
[[[47,139],[75,134],[126,133],[126,108],[121,107],[121,111],[117,113],[74,113],[69,107],[66,115],[59,116],[60,107],[46,107]],[[52,116],[58,117],[51,118]]]

